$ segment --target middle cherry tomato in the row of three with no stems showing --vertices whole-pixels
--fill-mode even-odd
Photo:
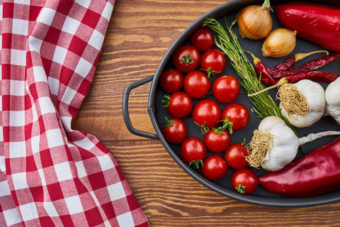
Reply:
[[[210,79],[198,70],[189,72],[184,77],[184,90],[193,99],[200,99],[210,90]]]

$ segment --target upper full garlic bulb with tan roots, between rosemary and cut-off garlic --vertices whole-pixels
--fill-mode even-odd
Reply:
[[[317,82],[302,79],[278,89],[281,113],[297,128],[311,126],[324,115],[324,89]]]

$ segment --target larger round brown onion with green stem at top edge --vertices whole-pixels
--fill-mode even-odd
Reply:
[[[273,18],[270,11],[269,0],[265,0],[262,6],[250,5],[242,9],[237,17],[239,34],[242,38],[260,40],[271,33]]]

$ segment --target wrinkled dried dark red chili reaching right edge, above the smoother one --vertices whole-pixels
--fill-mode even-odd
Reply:
[[[305,63],[305,65],[301,65],[300,67],[297,67],[296,69],[271,73],[271,75],[273,78],[280,78],[280,77],[285,77],[285,76],[292,75],[292,74],[299,74],[301,72],[309,72],[312,70],[316,70],[319,67],[323,67],[324,65],[328,65],[331,62],[334,62],[339,59],[340,59],[340,52],[334,52],[331,55],[318,57],[314,60],[311,60],[310,62],[307,62]]]

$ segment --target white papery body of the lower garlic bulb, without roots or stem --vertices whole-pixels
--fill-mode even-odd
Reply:
[[[259,131],[273,135],[273,148],[261,161],[263,169],[268,171],[280,170],[294,160],[297,148],[300,146],[300,140],[281,118],[277,116],[263,118],[259,124]]]

